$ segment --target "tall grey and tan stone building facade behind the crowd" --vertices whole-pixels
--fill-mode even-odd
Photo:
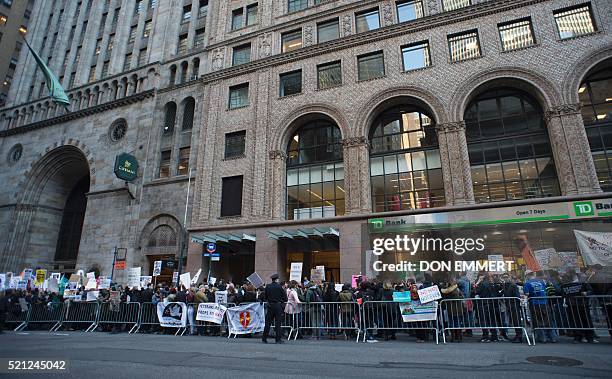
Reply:
[[[367,271],[363,225],[368,219],[453,212],[478,217],[502,208],[605,202],[609,197],[605,191],[610,187],[601,183],[607,183],[610,173],[595,163],[597,149],[590,146],[579,92],[594,70],[612,67],[608,1],[88,4],[37,1],[28,32],[44,56],[50,49],[44,41],[49,25],[60,18],[60,47],[49,51],[49,62],[61,75],[71,106],[60,108],[49,98],[36,97],[42,78],[32,57],[22,51],[8,106],[0,110],[2,271],[42,266],[110,274],[113,250],[120,247],[126,249],[128,267],[147,272],[154,259],[179,257],[185,243],[184,269],[192,272],[203,268],[236,281],[253,271],[262,277],[273,272],[288,277],[289,263],[302,260],[306,275],[315,263],[325,263],[335,270],[336,280],[346,281]],[[584,30],[568,37],[564,33],[572,31],[559,24],[564,12],[584,9],[588,16],[580,17],[591,24],[578,22]],[[371,14],[374,18],[366,17]],[[410,14],[415,16],[406,16]],[[529,21],[531,43],[505,48],[502,29],[517,20]],[[320,42],[325,23],[335,25],[337,35]],[[283,37],[293,31],[301,31],[294,40],[297,49]],[[478,52],[463,59],[452,41],[474,31]],[[427,45],[427,63],[407,70],[403,50],[418,43]],[[239,56],[246,56],[246,62],[238,62]],[[370,56],[382,57],[382,72],[364,79],[361,57]],[[319,67],[330,62],[339,62],[341,79],[323,89]],[[299,90],[283,95],[289,89],[284,75],[296,72]],[[240,88],[247,88],[246,98]],[[548,174],[558,183],[558,192],[511,198],[507,186],[508,198],[499,202],[475,194],[482,187],[472,177],[476,171],[466,111],[479,96],[497,89],[518,91],[529,99],[524,104],[540,108],[554,160]],[[373,125],[387,110],[404,105],[427,115],[427,125],[434,127],[444,200],[434,205],[431,194],[415,192],[418,200],[396,206],[394,196],[387,196],[381,210],[373,200],[378,196],[372,187]],[[609,131],[611,114],[603,115],[597,118],[603,126],[597,127]],[[306,207],[300,203],[299,209],[289,210],[288,146],[296,133],[317,120],[340,132],[343,178],[338,183],[344,194],[335,190],[343,198],[328,208],[331,217],[298,217]],[[242,131],[243,152],[226,157],[228,134]],[[604,157],[612,156],[605,147],[603,151]],[[113,173],[115,157],[122,152],[139,161],[138,178],[129,185]],[[66,235],[67,200],[87,177],[78,255],[62,258],[58,239]],[[226,199],[227,206],[236,199],[241,206],[227,216],[222,196],[231,191],[223,191],[223,183],[234,177],[241,178],[241,196]],[[398,202],[402,196],[398,194]],[[308,208],[309,214],[313,209],[325,214],[325,202],[317,203]],[[596,228],[609,226],[597,220]],[[219,262],[202,257],[202,245],[208,242],[217,243]]]

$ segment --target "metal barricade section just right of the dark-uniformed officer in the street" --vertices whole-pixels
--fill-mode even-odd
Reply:
[[[293,323],[292,331],[295,330],[294,340],[300,331],[309,330],[313,337],[321,337],[323,331],[329,335],[336,336],[348,331],[356,334],[355,342],[359,341],[360,308],[357,302],[316,302],[301,303],[293,305],[298,312],[291,315]],[[291,331],[289,332],[291,337]],[[346,335],[348,338],[348,335]]]

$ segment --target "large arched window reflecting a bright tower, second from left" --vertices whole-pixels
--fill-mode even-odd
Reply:
[[[435,122],[425,110],[400,105],[382,112],[374,120],[370,142],[375,212],[446,203]]]

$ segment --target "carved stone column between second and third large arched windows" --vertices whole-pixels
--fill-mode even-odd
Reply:
[[[465,122],[438,124],[436,132],[440,146],[446,204],[473,204],[474,191],[465,138]]]

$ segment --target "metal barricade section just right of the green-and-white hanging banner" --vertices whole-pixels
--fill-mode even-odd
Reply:
[[[483,338],[507,335],[513,329],[515,337],[531,345],[526,328],[526,315],[518,297],[489,297],[467,299],[443,299],[440,301],[442,339],[446,343],[446,331],[453,340],[462,339],[463,330],[482,329]],[[454,331],[454,332],[453,332]]]

